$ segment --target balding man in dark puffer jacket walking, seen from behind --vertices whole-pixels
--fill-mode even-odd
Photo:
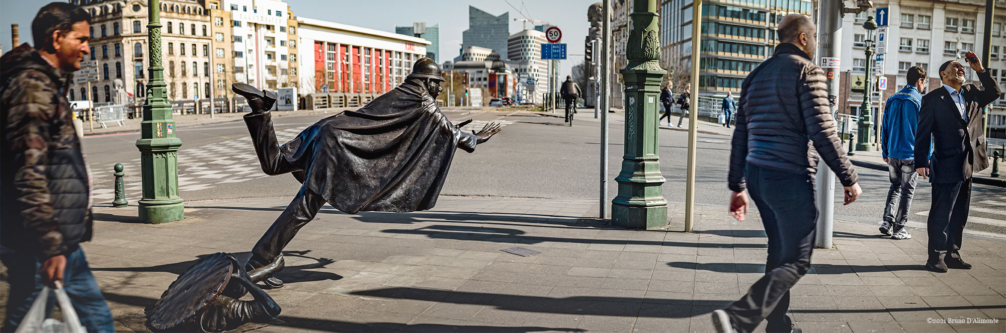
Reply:
[[[750,332],[762,320],[768,320],[768,332],[800,331],[786,312],[790,288],[810,269],[818,154],[845,186],[845,204],[862,192],[836,133],[824,71],[811,60],[815,31],[806,16],[784,17],[776,54],[741,86],[730,153],[730,214],[743,220],[749,189],[769,236],[769,259],[765,277],[747,295],[713,312],[719,332]]]

